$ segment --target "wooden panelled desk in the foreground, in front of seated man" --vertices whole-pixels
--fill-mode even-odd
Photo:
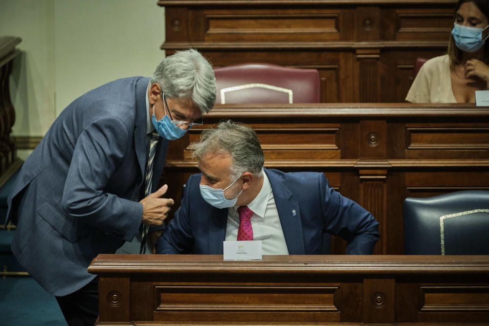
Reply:
[[[489,322],[488,256],[99,255],[89,272],[97,325]]]

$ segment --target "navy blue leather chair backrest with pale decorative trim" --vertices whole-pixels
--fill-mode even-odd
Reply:
[[[406,198],[403,219],[407,255],[489,254],[489,191]]]

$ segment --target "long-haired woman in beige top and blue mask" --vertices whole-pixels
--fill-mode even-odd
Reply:
[[[422,65],[406,101],[475,103],[489,89],[489,0],[459,0],[448,53]]]

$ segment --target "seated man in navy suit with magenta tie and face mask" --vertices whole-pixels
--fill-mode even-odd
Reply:
[[[318,255],[328,232],[348,241],[347,254],[372,254],[379,239],[372,214],[322,173],[265,169],[253,129],[224,121],[193,145],[201,174],[188,179],[156,253],[222,254],[222,241],[252,239],[262,240],[264,255]]]

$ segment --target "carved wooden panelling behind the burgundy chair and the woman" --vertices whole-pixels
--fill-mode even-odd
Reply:
[[[316,68],[321,101],[404,102],[416,58],[446,52],[456,0],[160,0],[166,54]]]

